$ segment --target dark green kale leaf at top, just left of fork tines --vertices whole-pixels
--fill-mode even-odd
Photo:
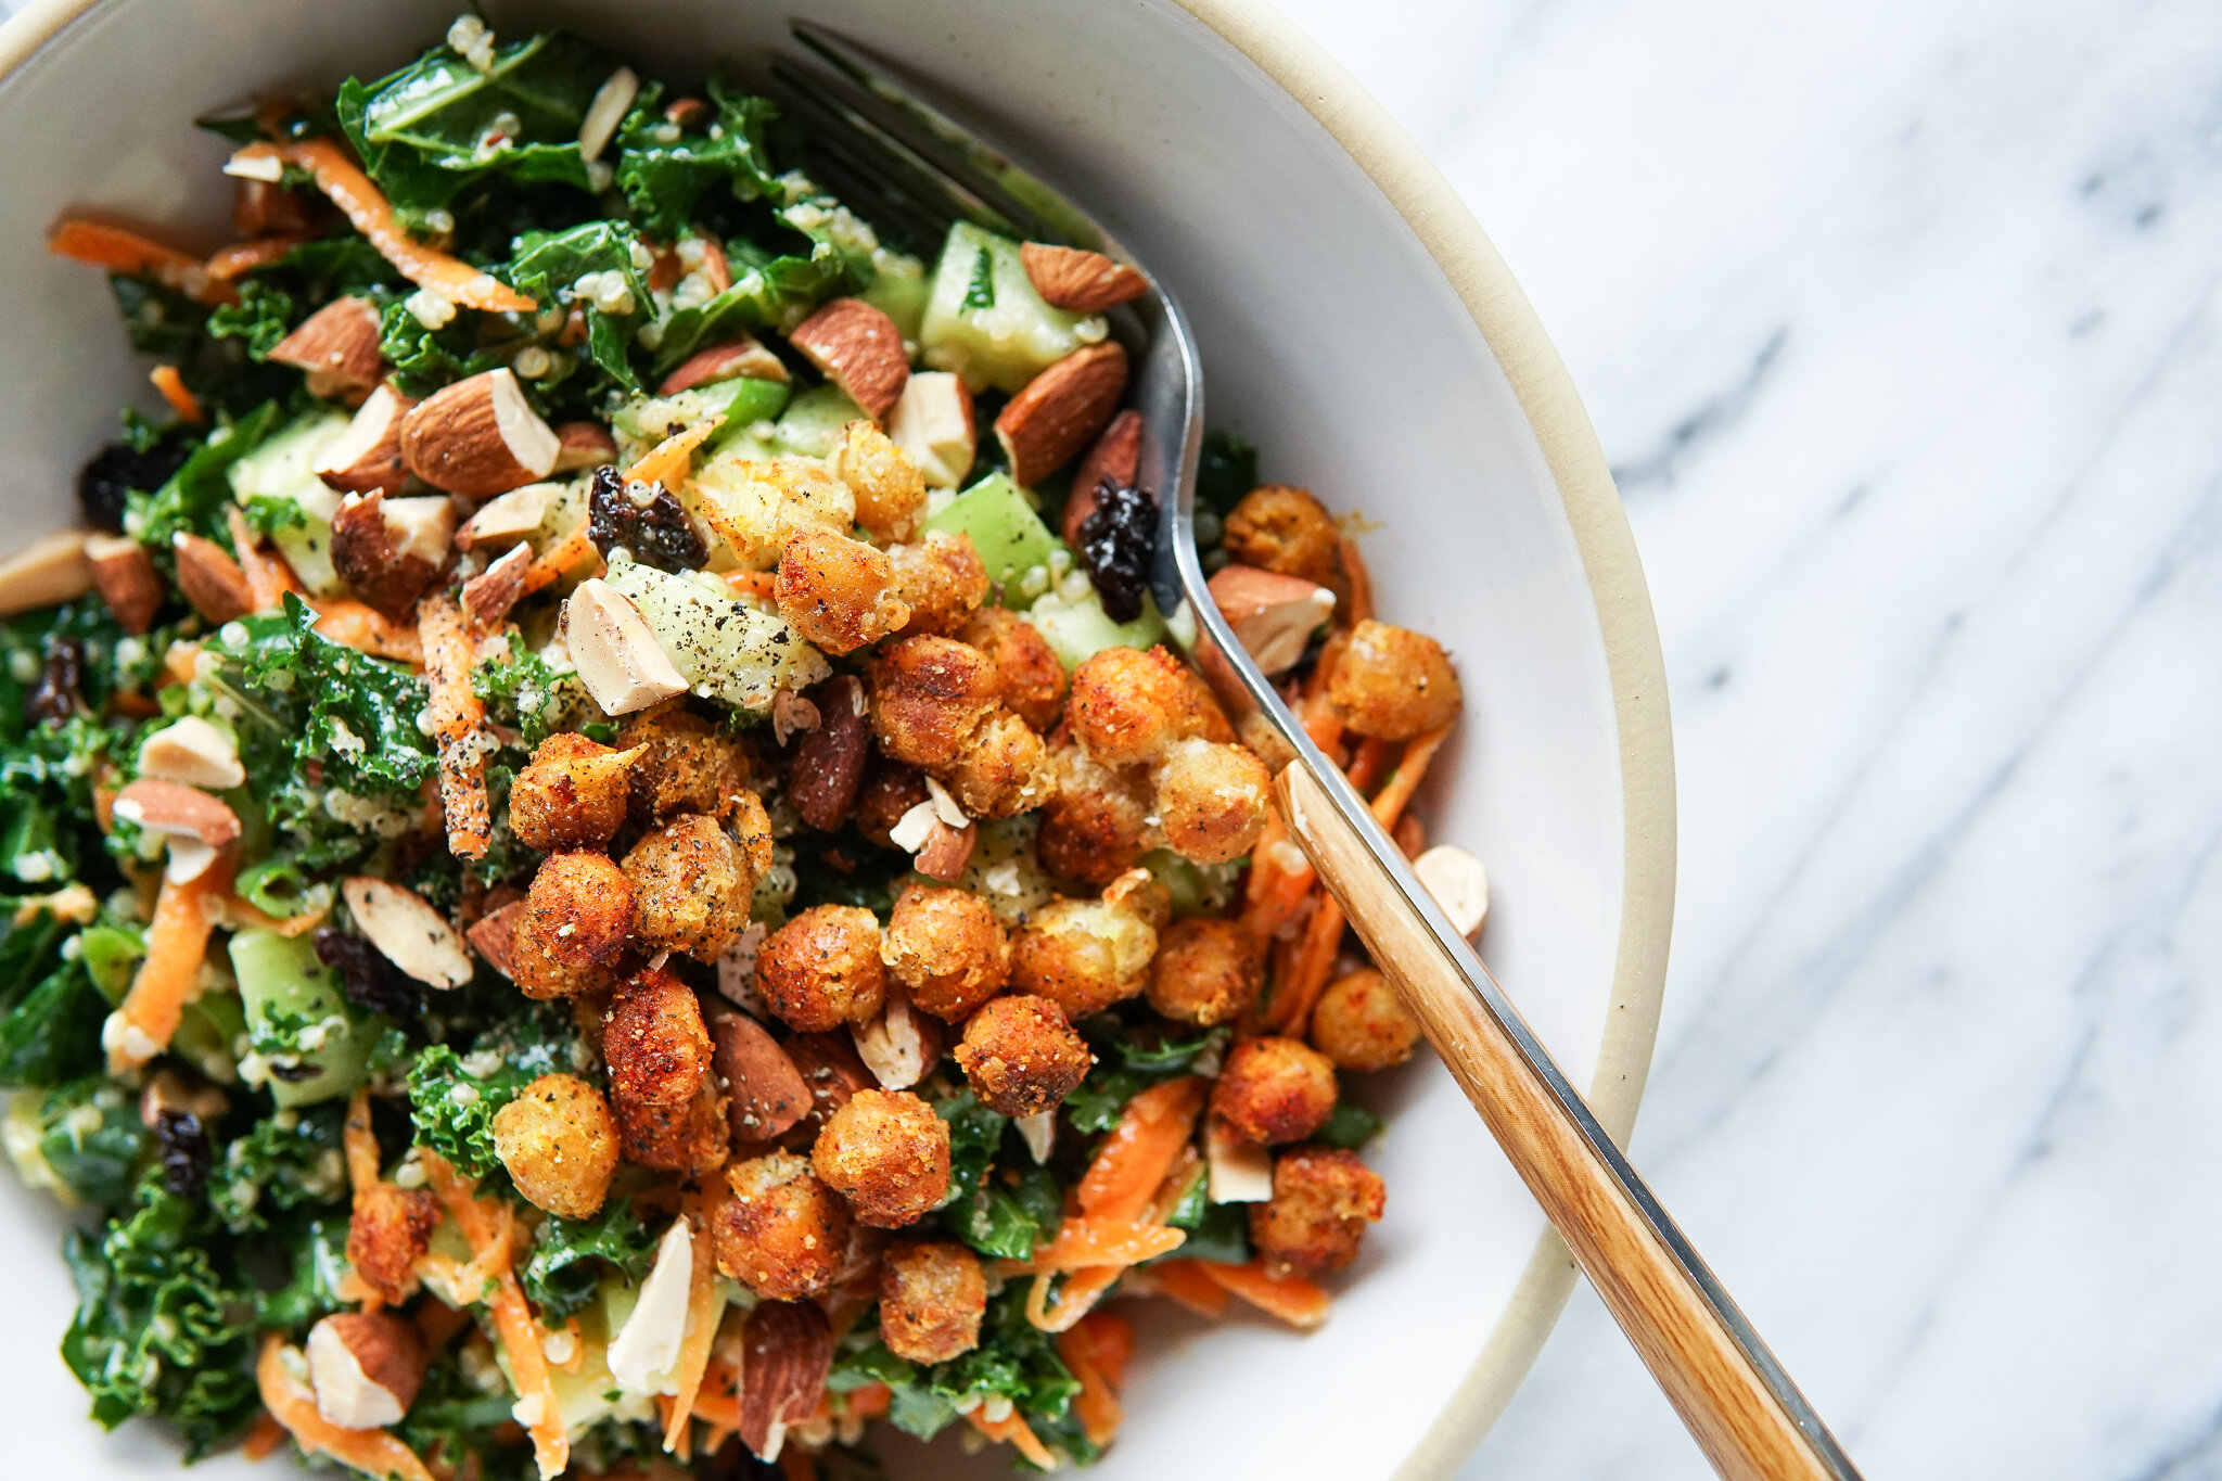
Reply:
[[[709,80],[715,118],[680,127],[655,104],[649,89],[618,129],[618,189],[640,229],[671,240],[695,220],[707,195],[755,200],[778,195],[764,135],[778,109],[767,98],[735,91],[724,78]]]

